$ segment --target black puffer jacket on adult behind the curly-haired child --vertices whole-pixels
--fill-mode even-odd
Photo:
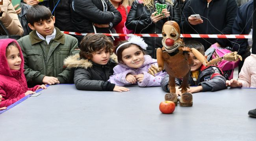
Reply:
[[[114,27],[122,20],[121,14],[109,0],[72,0],[71,16],[74,32],[79,33],[111,33],[109,28],[98,28],[93,23],[111,23],[111,27]],[[82,37],[78,36],[78,42],[81,39]]]

